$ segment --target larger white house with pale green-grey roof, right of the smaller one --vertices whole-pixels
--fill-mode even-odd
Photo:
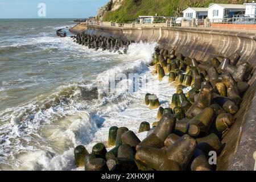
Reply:
[[[209,19],[233,18],[233,15],[244,14],[245,5],[214,3],[208,7]]]

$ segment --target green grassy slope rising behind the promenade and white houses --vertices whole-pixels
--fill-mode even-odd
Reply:
[[[194,0],[208,7],[209,3],[232,3],[232,0]],[[104,15],[104,21],[118,23],[131,22],[139,15],[173,16],[177,7],[187,7],[187,0],[125,0],[118,10],[109,11]],[[238,0],[238,3],[243,3]]]

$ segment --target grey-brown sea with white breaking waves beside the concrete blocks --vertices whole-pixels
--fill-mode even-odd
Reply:
[[[133,43],[119,55],[56,35],[75,24],[0,19],[0,170],[84,170],[74,148],[106,145],[110,127],[146,137],[139,125],[158,112],[144,104],[146,93],[170,106],[175,86],[150,67],[157,43]]]

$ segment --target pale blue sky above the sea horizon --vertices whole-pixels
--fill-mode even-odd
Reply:
[[[40,18],[38,5],[46,5],[43,18],[87,18],[109,0],[0,0],[1,18]]]

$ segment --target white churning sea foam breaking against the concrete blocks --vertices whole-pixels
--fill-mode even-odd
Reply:
[[[52,41],[55,39],[35,40],[36,43]],[[74,163],[73,149],[77,145],[85,145],[90,152],[94,144],[106,144],[111,126],[127,127],[138,134],[141,122],[156,121],[157,110],[150,110],[144,105],[146,93],[157,94],[162,106],[169,106],[175,88],[168,83],[167,77],[161,82],[157,76],[152,77],[152,67],[148,67],[155,43],[131,44],[127,55],[118,55],[77,46],[69,38],[61,41],[63,49],[73,48],[81,53],[90,51],[89,56],[94,61],[105,58],[110,61],[112,57],[119,61],[89,84],[75,82],[63,85],[49,96],[39,96],[28,104],[2,111],[0,121],[5,123],[0,125],[0,131],[6,135],[0,135],[0,169],[82,170]],[[139,88],[135,92],[127,92],[127,89],[117,86],[114,94],[104,94],[101,99],[81,100],[82,89],[93,92],[93,88],[99,82],[105,82],[104,78],[113,72],[125,75],[141,73],[142,80],[150,77],[148,84],[157,84],[159,89]],[[117,81],[117,85],[127,82],[131,82],[128,77]],[[60,102],[51,104],[56,98]],[[146,133],[138,134],[138,137],[143,139]],[[15,156],[15,159],[10,159],[10,156]]]

